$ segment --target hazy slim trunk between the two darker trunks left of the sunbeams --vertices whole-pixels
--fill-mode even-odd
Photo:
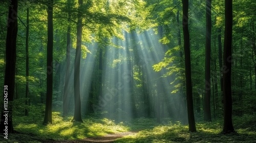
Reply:
[[[68,0],[68,9],[70,9],[71,2]],[[68,22],[70,23],[71,13],[68,13]],[[71,49],[71,27],[67,30],[67,53],[66,53],[66,75],[63,93],[63,116],[69,113],[69,89],[70,89],[70,49]]]

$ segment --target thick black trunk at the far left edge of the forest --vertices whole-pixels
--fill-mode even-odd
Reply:
[[[0,133],[3,134],[8,129],[8,133],[14,133],[12,124],[12,101],[14,97],[15,85],[15,66],[16,66],[16,39],[17,39],[17,0],[10,1],[8,14],[8,28],[6,36],[6,66],[5,66],[5,85],[4,85],[4,99],[8,99],[8,106],[2,105]],[[6,101],[6,100],[4,100]],[[6,102],[5,102],[6,103]],[[5,115],[8,115],[5,116]],[[8,125],[5,122],[8,119]],[[8,126],[6,129],[5,127]]]

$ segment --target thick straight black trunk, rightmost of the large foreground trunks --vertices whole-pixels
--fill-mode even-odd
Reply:
[[[225,35],[224,35],[224,68],[223,72],[223,101],[224,126],[223,133],[234,132],[232,124],[232,96],[231,96],[231,47],[232,47],[232,0],[225,1]]]

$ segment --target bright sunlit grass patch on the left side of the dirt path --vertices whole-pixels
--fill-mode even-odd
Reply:
[[[63,139],[83,139],[94,136],[104,136],[110,133],[125,132],[128,130],[123,125],[115,124],[107,118],[83,118],[83,123],[70,122],[72,116],[63,118],[60,112],[53,112],[53,124],[42,125],[41,120],[33,116],[14,117],[14,129],[19,133],[32,134],[39,138],[51,138],[55,140]]]

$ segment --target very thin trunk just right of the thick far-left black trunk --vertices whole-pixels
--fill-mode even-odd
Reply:
[[[29,105],[29,8],[27,8],[27,27],[26,27],[26,102]],[[25,115],[29,115],[29,110],[26,107]]]

